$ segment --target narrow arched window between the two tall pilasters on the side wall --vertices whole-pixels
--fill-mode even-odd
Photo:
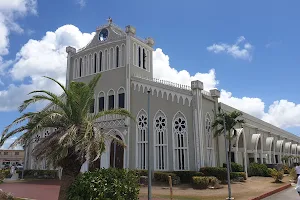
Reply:
[[[214,148],[213,148],[213,135],[211,131],[211,118],[208,113],[206,114],[205,117],[205,136],[206,136],[207,166],[212,167]]]

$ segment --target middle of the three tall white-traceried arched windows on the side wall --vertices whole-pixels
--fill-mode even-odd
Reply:
[[[154,117],[154,167],[155,170],[168,169],[167,118],[162,111]]]

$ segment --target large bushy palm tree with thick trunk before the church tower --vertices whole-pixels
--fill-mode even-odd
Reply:
[[[0,146],[11,136],[23,133],[12,144],[16,145],[27,143],[40,131],[55,128],[50,137],[42,139],[36,145],[33,156],[46,158],[54,167],[63,168],[59,200],[67,199],[67,190],[80,173],[82,164],[87,160],[93,162],[99,159],[105,151],[105,140],[113,138],[118,141],[116,137],[104,133],[95,126],[96,120],[106,115],[120,115],[133,119],[124,109],[90,113],[90,107],[94,103],[94,88],[100,77],[101,75],[95,76],[88,84],[71,82],[69,89],[58,81],[46,77],[62,88],[64,98],[46,90],[33,91],[30,93],[33,96],[23,102],[19,111],[23,112],[29,105],[43,100],[50,101],[59,109],[24,113],[2,133]],[[14,129],[11,130],[12,128]]]

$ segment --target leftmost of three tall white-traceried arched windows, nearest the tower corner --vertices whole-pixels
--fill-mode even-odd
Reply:
[[[147,169],[148,138],[147,138],[148,116],[141,110],[137,116],[137,168]]]

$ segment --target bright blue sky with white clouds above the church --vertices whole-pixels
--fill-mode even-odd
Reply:
[[[138,36],[154,38],[155,69],[165,72],[158,78],[174,80],[171,68],[185,84],[203,78],[206,89],[222,90],[221,101],[297,134],[299,7],[296,0],[2,0],[0,130],[19,116],[27,91],[47,85],[39,77],[64,81],[60,50],[84,46],[111,16],[120,27],[130,24]]]

